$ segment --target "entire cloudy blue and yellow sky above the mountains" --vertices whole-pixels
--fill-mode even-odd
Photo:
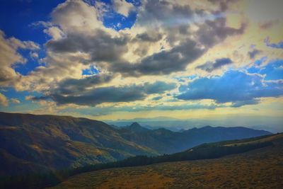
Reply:
[[[0,110],[283,131],[281,0],[4,0]]]

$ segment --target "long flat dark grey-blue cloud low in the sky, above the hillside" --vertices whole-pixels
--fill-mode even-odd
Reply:
[[[85,89],[76,95],[62,95],[62,93],[51,93],[49,95],[58,104],[74,103],[77,105],[98,105],[100,103],[117,103],[144,100],[146,96],[154,93],[161,94],[172,90],[176,85],[156,81],[153,84],[129,86],[106,86],[93,89]],[[60,89],[55,90],[60,91]]]

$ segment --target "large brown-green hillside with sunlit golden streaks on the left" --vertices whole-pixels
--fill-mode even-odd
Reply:
[[[122,138],[104,122],[55,115],[0,113],[0,174],[40,172],[156,151]]]

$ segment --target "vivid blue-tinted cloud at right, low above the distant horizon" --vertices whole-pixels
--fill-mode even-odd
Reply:
[[[282,81],[265,81],[259,74],[227,71],[223,76],[202,77],[180,88],[175,98],[182,100],[212,99],[232,106],[254,104],[256,98],[283,95]],[[245,103],[246,102],[246,103]]]

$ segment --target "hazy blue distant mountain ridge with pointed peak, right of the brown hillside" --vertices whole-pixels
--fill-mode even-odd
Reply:
[[[143,132],[133,132],[132,129],[127,129],[131,127],[128,126],[124,127],[124,130],[119,131],[122,137],[142,146],[155,149],[161,154],[171,154],[178,151],[183,151],[206,142],[219,142],[229,139],[244,139],[272,134],[271,132],[264,130],[253,130],[246,127],[206,126],[173,132],[164,128],[157,130],[148,130],[146,128],[141,129],[140,125],[137,126],[137,123],[135,123],[135,125],[135,127],[139,128],[139,131],[142,130]]]

